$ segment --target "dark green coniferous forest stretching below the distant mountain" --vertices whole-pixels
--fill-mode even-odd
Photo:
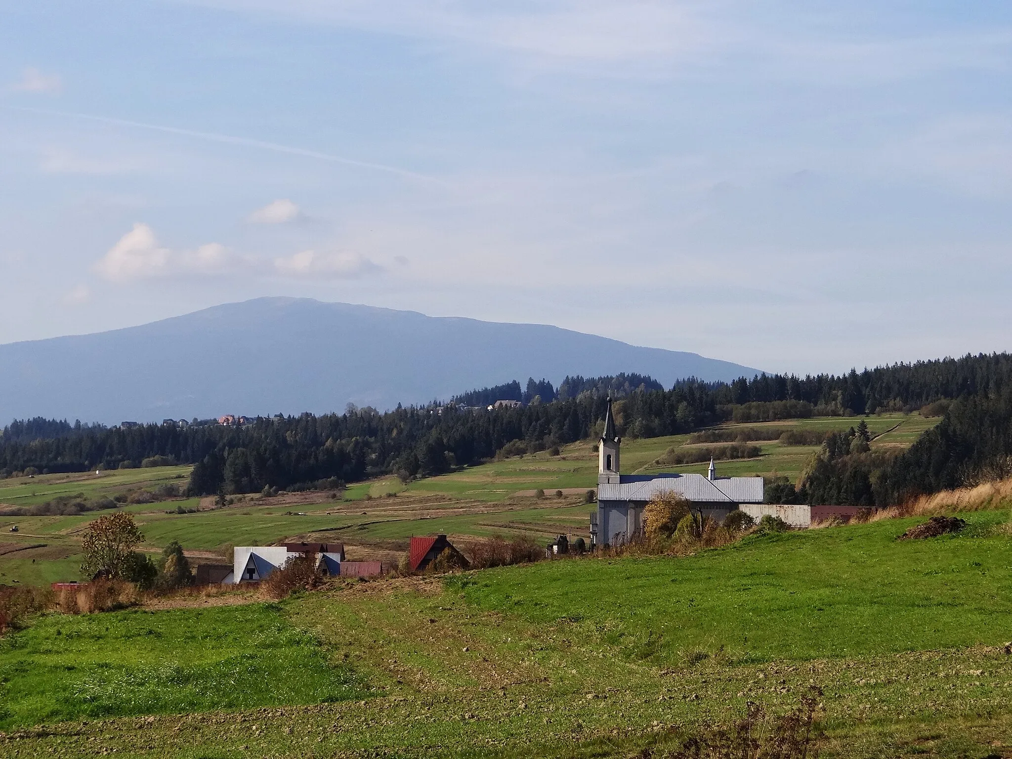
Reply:
[[[197,495],[333,487],[389,474],[429,477],[491,458],[507,444],[536,451],[594,436],[609,395],[617,399],[616,418],[627,437],[691,432],[723,421],[861,416],[951,402],[941,404],[941,423],[899,455],[831,437],[799,488],[776,487],[781,502],[886,506],[1002,475],[1012,454],[1012,355],[1002,353],[840,376],[686,380],[669,390],[636,374],[566,377],[558,389],[530,380],[525,389],[511,383],[476,390],[446,405],[385,413],[349,408],[343,414],[258,418],[244,426],[120,428],[34,419],[4,428],[0,475],[175,461],[195,465],[190,489]],[[486,410],[495,400],[526,405]]]

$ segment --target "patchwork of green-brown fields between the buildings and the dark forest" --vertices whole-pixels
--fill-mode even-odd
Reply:
[[[857,417],[826,417],[725,427],[831,431],[846,430],[858,421]],[[865,421],[876,435],[873,447],[903,448],[938,420],[917,414],[883,414]],[[669,448],[685,446],[687,439],[687,435],[676,435],[623,440],[622,471],[704,473],[706,463],[651,466]],[[761,449],[759,456],[719,461],[718,474],[777,474],[796,480],[818,450],[818,446],[786,446],[776,441],[755,444]],[[188,467],[166,467],[4,480],[0,481],[0,504],[32,506],[79,494],[85,498],[112,497],[166,484],[182,486],[188,477]],[[220,509],[214,508],[214,499],[175,499],[121,508],[135,514],[145,534],[145,550],[155,553],[178,540],[197,562],[222,561],[234,545],[268,544],[287,538],[344,542],[350,558],[396,561],[408,538],[419,534],[444,532],[463,542],[494,534],[529,534],[545,542],[561,533],[589,537],[589,515],[594,506],[585,503],[585,495],[596,488],[596,481],[597,454],[592,441],[580,441],[565,446],[559,456],[541,451],[408,485],[385,478],[353,484],[340,495],[238,496]],[[544,491],[544,498],[534,497],[537,489]],[[562,491],[562,497],[556,496],[557,491]],[[179,509],[199,511],[177,513]],[[0,583],[79,579],[81,532],[101,513],[0,516]],[[11,533],[12,526],[17,526],[18,532]],[[38,547],[28,547],[31,545]]]

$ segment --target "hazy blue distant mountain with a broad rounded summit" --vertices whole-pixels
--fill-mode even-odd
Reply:
[[[640,372],[731,381],[757,369],[540,324],[260,298],[160,322],[0,345],[0,420],[118,423],[226,413],[380,410],[528,376]]]

